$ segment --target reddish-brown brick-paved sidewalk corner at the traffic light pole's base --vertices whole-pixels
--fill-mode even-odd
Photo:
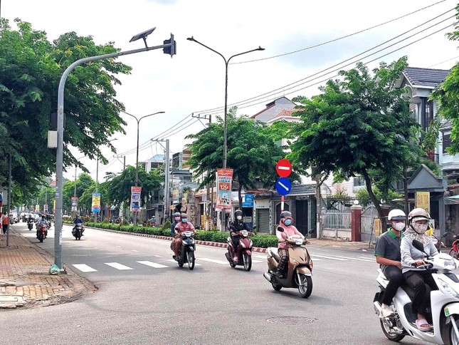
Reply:
[[[9,247],[6,235],[0,243],[0,309],[62,304],[97,290],[68,268],[67,274],[49,274],[53,263],[51,254],[10,226]]]

